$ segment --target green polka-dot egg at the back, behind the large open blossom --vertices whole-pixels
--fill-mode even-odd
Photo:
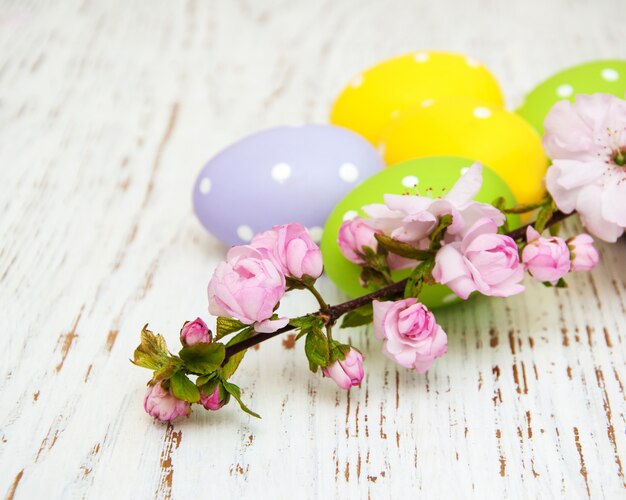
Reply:
[[[556,102],[597,92],[626,98],[626,60],[593,61],[560,71],[535,87],[517,113],[543,134],[543,122]]]

